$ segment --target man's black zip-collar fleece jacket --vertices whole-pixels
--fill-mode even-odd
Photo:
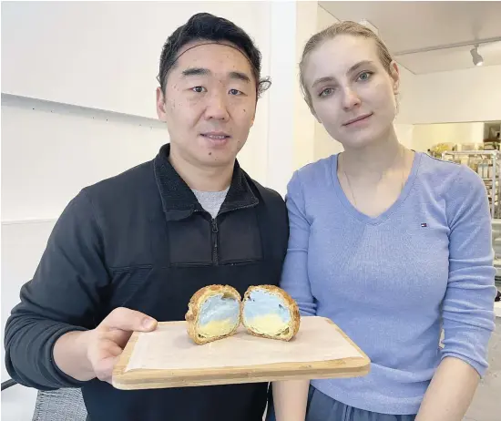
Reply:
[[[278,285],[288,241],[285,203],[235,163],[217,218],[158,156],[80,191],[56,222],[34,278],[5,326],[5,365],[20,384],[81,387],[91,421],[261,421],[267,384],[122,391],[78,382],[54,363],[62,334],[93,329],[125,306],[184,320],[202,286]]]

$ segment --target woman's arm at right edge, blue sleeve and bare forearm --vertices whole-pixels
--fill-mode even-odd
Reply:
[[[491,218],[482,180],[460,168],[447,198],[449,280],[443,303],[442,362],[416,421],[460,421],[487,368],[495,328]],[[454,191],[453,191],[454,190]]]

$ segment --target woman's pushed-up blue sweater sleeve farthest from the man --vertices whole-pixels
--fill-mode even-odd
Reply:
[[[442,358],[459,358],[484,375],[487,344],[495,328],[496,295],[489,203],[483,181],[464,166],[449,193],[449,280],[443,303]]]

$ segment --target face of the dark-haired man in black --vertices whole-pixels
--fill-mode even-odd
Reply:
[[[249,136],[257,99],[248,59],[231,46],[207,42],[183,46],[165,97],[157,89],[158,118],[167,122],[171,150],[202,168],[233,164]]]

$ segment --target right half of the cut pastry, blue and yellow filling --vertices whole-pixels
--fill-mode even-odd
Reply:
[[[250,334],[290,341],[298,333],[298,305],[279,287],[251,286],[243,296],[241,308],[242,323]]]

